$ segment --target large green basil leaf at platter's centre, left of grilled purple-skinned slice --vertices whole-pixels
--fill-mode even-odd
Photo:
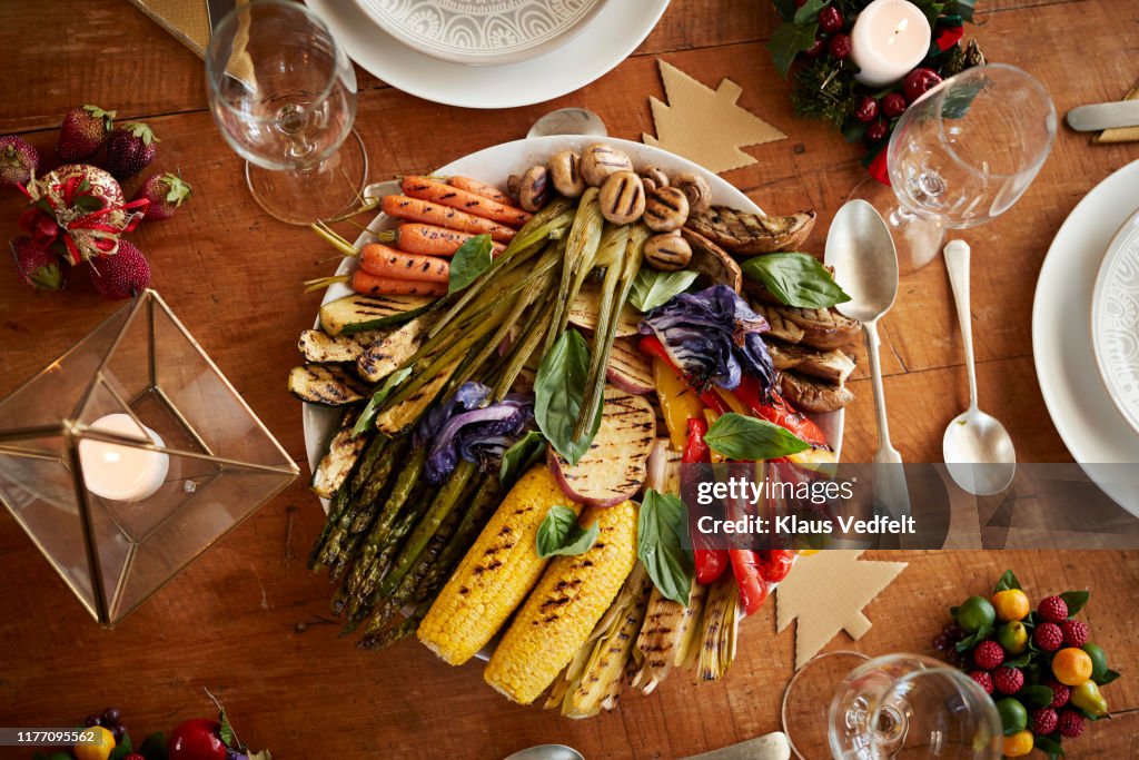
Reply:
[[[573,440],[577,410],[585,398],[589,374],[589,346],[581,334],[571,328],[562,333],[554,348],[542,357],[534,379],[534,419],[554,450],[571,465],[589,451],[601,426],[601,399],[598,399],[590,433]]]

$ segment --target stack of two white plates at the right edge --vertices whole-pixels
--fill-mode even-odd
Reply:
[[[1036,283],[1032,349],[1056,430],[1089,477],[1139,515],[1139,161],[1081,201]],[[1130,467],[1121,467],[1130,465]]]

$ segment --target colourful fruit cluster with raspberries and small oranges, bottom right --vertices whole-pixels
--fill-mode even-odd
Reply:
[[[1035,749],[1060,758],[1064,739],[1107,717],[1099,689],[1120,675],[1107,667],[1107,653],[1091,640],[1088,623],[1075,616],[1088,596],[1064,591],[1033,610],[1009,570],[991,597],[970,596],[951,607],[953,622],[934,639],[934,648],[995,702],[1005,757]]]

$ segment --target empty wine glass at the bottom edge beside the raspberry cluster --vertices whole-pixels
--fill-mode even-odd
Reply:
[[[1003,736],[980,685],[917,654],[818,655],[787,685],[782,722],[804,760],[999,760]]]

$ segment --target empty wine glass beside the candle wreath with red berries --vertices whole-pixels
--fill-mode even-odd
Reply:
[[[891,187],[851,193],[890,224],[903,272],[933,261],[945,229],[983,224],[1032,183],[1056,139],[1056,107],[1027,72],[967,68],[931,89],[898,120],[886,165]]]

